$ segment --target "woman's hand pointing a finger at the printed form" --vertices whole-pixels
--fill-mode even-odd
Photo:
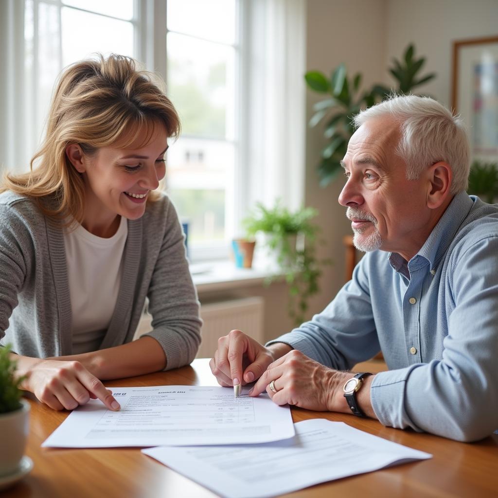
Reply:
[[[77,361],[39,360],[21,387],[54,410],[73,410],[90,398],[100,399],[110,410],[120,409],[112,392]]]

